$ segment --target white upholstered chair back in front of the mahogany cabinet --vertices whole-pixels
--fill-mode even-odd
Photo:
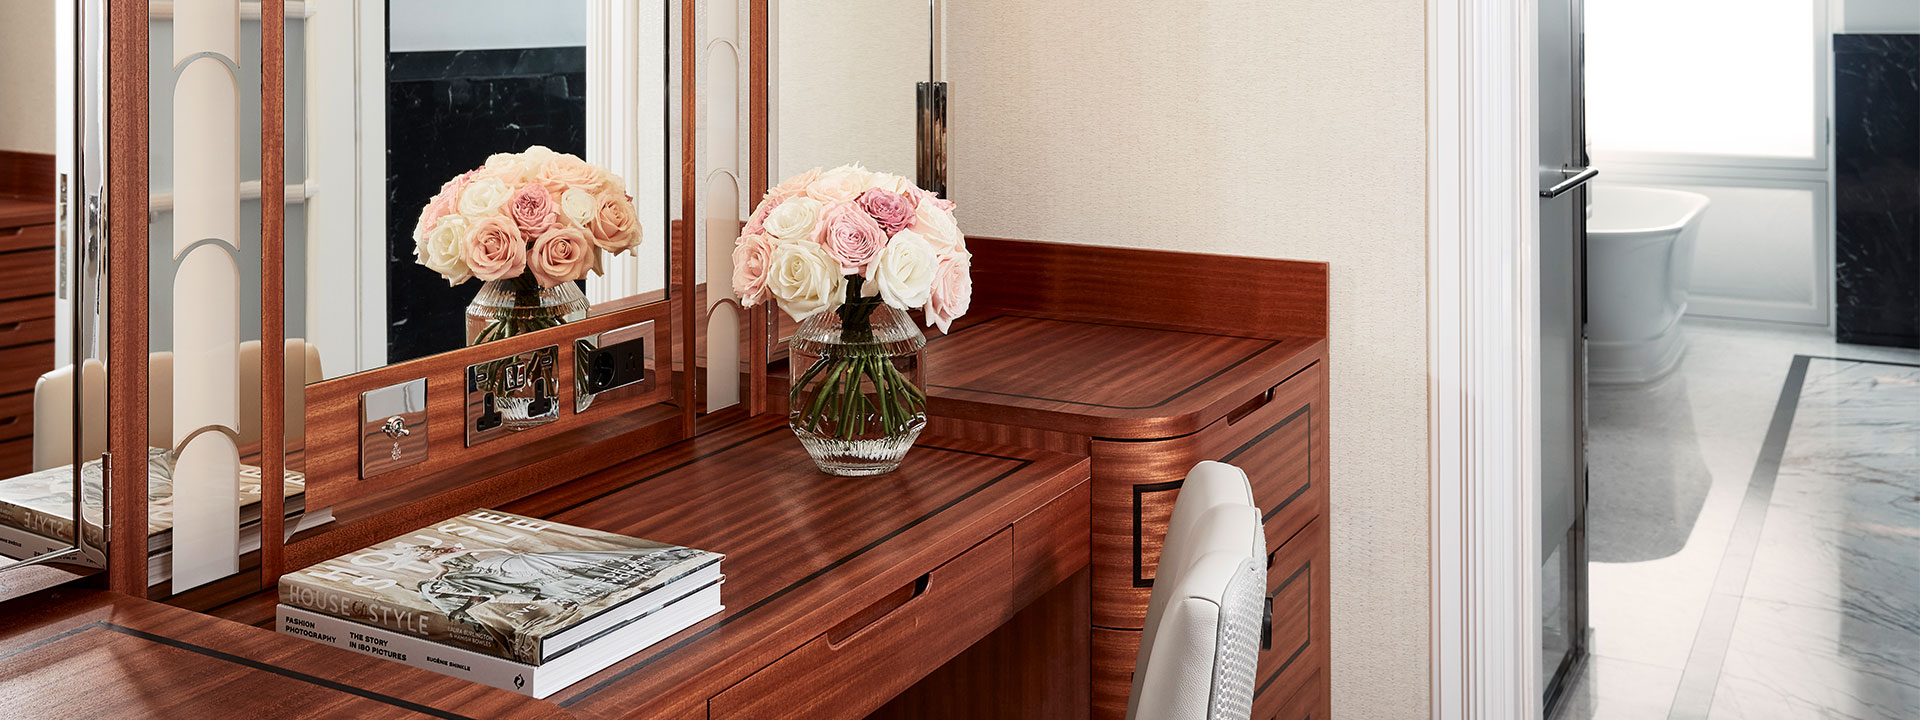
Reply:
[[[1267,540],[1240,468],[1200,463],[1173,503],[1129,720],[1246,718],[1267,626]]]

